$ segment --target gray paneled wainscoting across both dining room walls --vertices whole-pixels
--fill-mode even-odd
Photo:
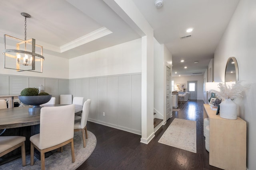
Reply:
[[[71,80],[0,74],[0,96],[20,95],[40,84],[56,104],[60,94],[91,99],[88,121],[141,135],[141,73]]]

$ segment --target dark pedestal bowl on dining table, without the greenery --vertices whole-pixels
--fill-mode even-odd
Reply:
[[[52,95],[45,96],[18,96],[20,102],[26,105],[33,105],[28,111],[38,111],[41,109],[40,104],[45,104],[49,102],[52,98]]]

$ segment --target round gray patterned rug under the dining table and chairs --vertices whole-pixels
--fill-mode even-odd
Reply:
[[[56,152],[48,158],[45,158],[46,170],[75,170],[92,154],[96,147],[95,135],[88,132],[88,139],[86,139],[86,147],[83,147],[82,132],[74,133],[74,152],[75,162],[72,163],[71,146],[70,144],[63,147],[63,152]],[[36,149],[35,149],[36,150]],[[30,166],[30,154],[26,155],[26,166],[22,166],[21,158],[8,162],[0,166],[0,170],[40,170],[41,161],[34,157],[34,165]]]

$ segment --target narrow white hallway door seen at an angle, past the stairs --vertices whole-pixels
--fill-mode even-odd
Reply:
[[[170,118],[170,104],[171,104],[171,95],[170,95],[170,68],[166,66],[166,121]]]

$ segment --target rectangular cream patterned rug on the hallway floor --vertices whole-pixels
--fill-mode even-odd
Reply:
[[[196,153],[196,121],[175,118],[158,142]]]

